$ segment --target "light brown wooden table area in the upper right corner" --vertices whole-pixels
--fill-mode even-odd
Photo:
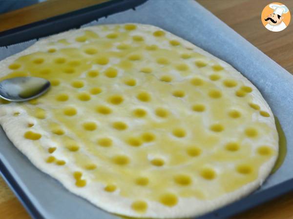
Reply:
[[[280,32],[267,30],[260,16],[273,0],[197,0],[251,44],[293,73],[293,18]],[[277,2],[277,1],[275,1]],[[293,13],[293,0],[281,1]]]

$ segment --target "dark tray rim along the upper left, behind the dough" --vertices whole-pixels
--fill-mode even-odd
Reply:
[[[79,28],[81,25],[99,18],[107,17],[145,3],[147,0],[109,0],[73,12],[47,18],[0,32],[0,47],[38,39],[65,30]]]

